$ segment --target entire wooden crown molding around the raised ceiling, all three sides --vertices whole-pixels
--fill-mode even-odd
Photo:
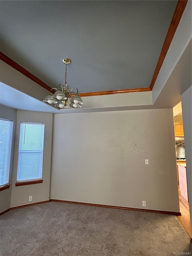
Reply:
[[[176,5],[175,12],[173,14],[173,18],[171,20],[170,27],[168,29],[153,77],[152,81],[149,87],[144,87],[144,88],[132,88],[132,89],[121,89],[121,90],[112,90],[112,91],[101,91],[101,92],[84,92],[80,93],[79,95],[81,97],[88,97],[88,96],[98,96],[98,95],[110,95],[110,94],[119,94],[119,93],[129,93],[129,92],[149,92],[152,91],[153,86],[155,84],[155,81],[158,77],[159,71],[161,69],[161,66],[164,62],[165,56],[167,54],[167,51],[169,50],[170,44],[173,40],[173,36],[175,35],[176,29],[179,25],[179,22],[181,20],[182,14],[184,12],[184,9],[187,5],[188,0],[179,0]],[[4,53],[0,52],[0,59],[11,66],[12,68],[16,69],[19,71],[21,74],[24,76],[28,77],[38,85],[42,86],[44,89],[50,91],[51,87],[45,84],[43,81],[35,77],[33,74],[31,74],[29,71],[27,71],[25,68],[22,68],[19,64],[14,62],[12,59],[4,55]]]

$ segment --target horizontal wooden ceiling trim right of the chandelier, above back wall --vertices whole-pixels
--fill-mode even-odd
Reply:
[[[88,97],[88,96],[110,95],[110,94],[118,94],[118,93],[149,92],[149,91],[151,91],[149,87],[143,87],[143,88],[121,89],[121,90],[102,91],[102,92],[83,92],[83,93],[79,93],[79,95],[80,97]]]

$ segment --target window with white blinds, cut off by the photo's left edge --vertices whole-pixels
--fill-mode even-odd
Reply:
[[[13,121],[0,119],[0,187],[9,183]]]

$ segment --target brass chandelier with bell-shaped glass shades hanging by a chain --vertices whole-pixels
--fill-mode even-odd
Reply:
[[[64,109],[67,108],[67,99],[70,100],[70,107],[79,108],[83,104],[82,98],[79,96],[78,89],[76,87],[69,90],[67,84],[67,64],[71,61],[70,59],[62,59],[62,62],[65,64],[65,83],[64,85],[60,84],[58,88],[52,88],[49,92],[49,95],[44,99],[46,104],[55,104],[56,108]],[[53,94],[51,91],[55,89],[56,92]],[[76,91],[76,93],[74,92]]]

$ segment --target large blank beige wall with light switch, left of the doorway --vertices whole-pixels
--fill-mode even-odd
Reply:
[[[173,109],[54,115],[51,199],[179,212],[173,124]]]

